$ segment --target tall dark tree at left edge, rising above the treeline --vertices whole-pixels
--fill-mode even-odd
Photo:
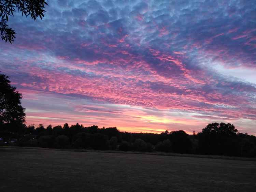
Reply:
[[[25,108],[21,106],[22,94],[10,85],[9,77],[0,74],[0,132],[5,137],[25,130]]]

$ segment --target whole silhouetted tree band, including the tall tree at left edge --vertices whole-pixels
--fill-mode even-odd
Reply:
[[[22,94],[11,86],[9,77],[0,74],[0,145],[256,157],[256,137],[238,133],[230,123],[210,123],[193,135],[182,130],[129,133],[116,127],[84,127],[79,123],[35,127],[25,124],[21,99]]]

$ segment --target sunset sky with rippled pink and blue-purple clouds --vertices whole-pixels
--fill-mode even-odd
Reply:
[[[0,71],[23,94],[26,124],[256,135],[254,0],[50,0],[16,13]]]

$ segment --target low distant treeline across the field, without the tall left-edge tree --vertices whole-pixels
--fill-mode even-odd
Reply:
[[[42,124],[37,128],[29,125],[19,130],[23,130],[22,133],[12,136],[17,140],[10,139],[18,146],[256,157],[256,137],[238,133],[230,123],[210,123],[193,135],[182,130],[160,134],[129,133],[120,132],[116,127],[100,129],[96,125],[83,127],[78,123],[46,128]]]

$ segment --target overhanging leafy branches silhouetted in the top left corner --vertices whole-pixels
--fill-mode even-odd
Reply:
[[[44,5],[47,0],[1,0],[0,1],[0,32],[1,38],[5,42],[9,41],[12,43],[15,38],[15,31],[9,28],[7,22],[9,16],[13,16],[13,12],[20,11],[27,17],[31,16],[32,19],[36,20],[37,17],[44,17]]]

